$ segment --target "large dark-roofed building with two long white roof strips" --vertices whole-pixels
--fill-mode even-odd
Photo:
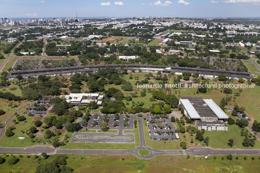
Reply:
[[[184,108],[184,114],[195,121],[199,130],[227,131],[227,114],[212,100],[202,97],[181,97],[179,104]]]

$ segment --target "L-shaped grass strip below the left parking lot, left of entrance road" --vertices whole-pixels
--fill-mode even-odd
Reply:
[[[140,145],[138,122],[137,128],[134,130],[125,130],[125,133],[134,133],[135,134],[135,143],[66,143],[65,146],[61,148],[75,148],[75,149],[115,149],[115,150],[130,150]],[[67,135],[71,137],[72,133],[67,132]]]

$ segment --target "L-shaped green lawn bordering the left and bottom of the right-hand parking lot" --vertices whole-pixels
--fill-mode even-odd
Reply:
[[[146,138],[146,145],[150,146],[156,150],[178,150],[181,149],[179,146],[179,141],[151,141],[147,126],[147,121],[143,120],[144,131],[145,131],[145,138]]]

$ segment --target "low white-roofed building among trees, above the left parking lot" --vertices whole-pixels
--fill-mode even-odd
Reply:
[[[70,93],[65,95],[66,102],[71,105],[88,105],[94,101],[97,106],[101,106],[104,95],[98,93]]]

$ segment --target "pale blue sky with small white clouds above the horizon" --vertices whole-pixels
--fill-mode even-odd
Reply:
[[[0,17],[260,17],[260,0],[0,0]]]

